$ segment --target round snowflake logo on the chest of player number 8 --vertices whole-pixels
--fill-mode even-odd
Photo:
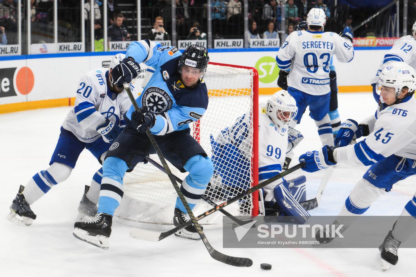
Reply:
[[[158,87],[149,87],[141,98],[141,105],[147,106],[149,110],[156,114],[161,114],[164,111],[172,109],[172,104],[171,96]]]

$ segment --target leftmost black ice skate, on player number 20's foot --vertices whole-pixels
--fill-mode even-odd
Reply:
[[[24,189],[25,187],[20,185],[19,193],[17,193],[12,205],[10,205],[10,214],[7,215],[7,219],[11,222],[29,226],[32,225],[33,220],[36,219],[36,215],[30,208],[29,203],[26,202],[25,195],[22,194]]]

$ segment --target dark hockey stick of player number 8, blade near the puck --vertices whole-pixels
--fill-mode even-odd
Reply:
[[[139,114],[143,114],[139,106],[136,103],[136,99],[134,99],[133,94],[131,93],[130,86],[127,83],[124,83],[124,88],[126,89],[127,94],[129,95],[131,104],[133,104],[134,109],[139,112]],[[185,207],[186,211],[188,212],[189,217],[191,218],[191,221],[189,221],[189,225],[193,224],[198,231],[199,236],[201,237],[201,240],[203,241],[206,249],[210,253],[211,257],[219,262],[223,262],[227,265],[233,265],[236,267],[250,267],[253,265],[253,261],[249,258],[243,258],[243,257],[233,257],[225,255],[221,252],[218,252],[215,250],[210,243],[208,242],[208,239],[206,238],[201,225],[198,223],[198,220],[196,220],[195,215],[193,215],[191,208],[189,207],[188,203],[186,202],[185,196],[181,192],[181,188],[179,188],[178,184],[176,183],[175,178],[173,177],[173,174],[171,170],[168,167],[168,164],[165,161],[165,158],[163,157],[163,154],[159,148],[159,146],[156,143],[155,138],[153,137],[153,134],[151,133],[149,127],[146,127],[146,134],[149,137],[150,142],[152,143],[153,148],[155,149],[163,168],[166,170],[166,173],[169,176],[169,179],[171,180],[171,183],[173,185],[173,188],[175,188],[176,193],[178,194],[179,198],[181,199],[181,202],[183,206]]]

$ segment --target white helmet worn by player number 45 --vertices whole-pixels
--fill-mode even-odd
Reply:
[[[383,87],[394,87],[396,96],[401,94],[401,90],[406,87],[408,93],[416,89],[416,71],[405,62],[393,62],[384,67],[379,74],[376,84],[376,92],[380,94]]]

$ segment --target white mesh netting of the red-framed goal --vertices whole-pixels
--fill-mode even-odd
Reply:
[[[209,64],[204,80],[208,87],[208,109],[200,121],[190,124],[191,135],[201,144],[207,155],[213,158],[214,169],[217,172],[211,178],[211,185],[208,185],[205,196],[218,204],[253,185],[251,143],[253,136],[257,134],[254,134],[252,121],[246,120],[245,128],[235,131],[238,136],[245,137],[244,142],[240,141],[237,146],[240,153],[244,152],[243,155],[236,155],[235,147],[230,143],[221,144],[219,138],[223,142],[224,136],[221,135],[221,131],[226,127],[232,129],[240,116],[252,117],[253,99],[258,97],[258,93],[253,90],[252,69]],[[161,164],[157,155],[151,155],[151,158]],[[182,180],[188,174],[181,173],[171,163],[168,165],[172,173]],[[115,215],[130,225],[172,224],[176,196],[165,173],[151,163],[139,163],[134,171],[124,176],[124,197]],[[198,216],[210,208],[212,206],[200,200],[193,213]],[[251,215],[252,196],[248,195],[225,209],[233,215]],[[221,220],[222,214],[217,212],[203,218],[200,223],[214,224],[220,223]]]

